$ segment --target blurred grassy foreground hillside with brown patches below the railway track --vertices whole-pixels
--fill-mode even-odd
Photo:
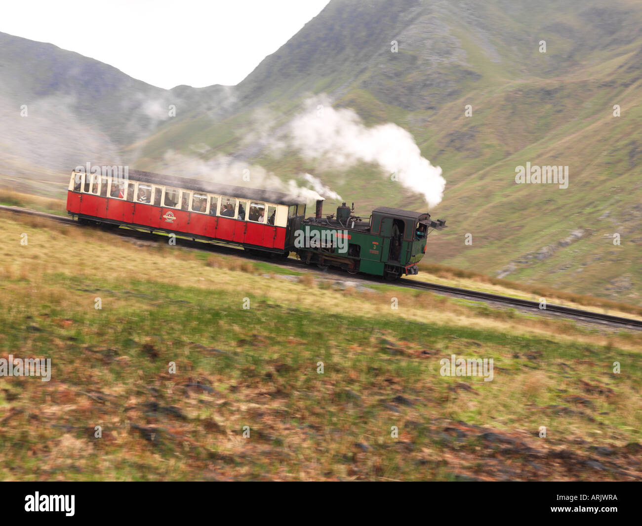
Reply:
[[[2,480],[642,476],[638,332],[3,219]]]

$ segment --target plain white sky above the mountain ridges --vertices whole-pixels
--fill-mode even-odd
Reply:
[[[238,84],[329,0],[5,0],[0,31],[163,88]]]

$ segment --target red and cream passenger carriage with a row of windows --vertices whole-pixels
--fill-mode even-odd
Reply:
[[[108,169],[116,167],[106,167]],[[119,177],[73,171],[67,213],[82,222],[126,225],[288,254],[306,205],[291,195],[129,170]]]

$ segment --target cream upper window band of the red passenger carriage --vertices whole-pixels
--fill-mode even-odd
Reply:
[[[285,227],[288,206],[74,171],[69,190],[212,216]]]

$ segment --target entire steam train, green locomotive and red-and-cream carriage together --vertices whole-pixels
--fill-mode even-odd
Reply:
[[[417,274],[430,229],[428,213],[378,207],[368,220],[343,203],[336,214],[305,218],[306,203],[281,192],[214,184],[115,166],[71,173],[67,213],[83,224],[125,225],[195,240],[232,243],[248,252],[396,279]]]

